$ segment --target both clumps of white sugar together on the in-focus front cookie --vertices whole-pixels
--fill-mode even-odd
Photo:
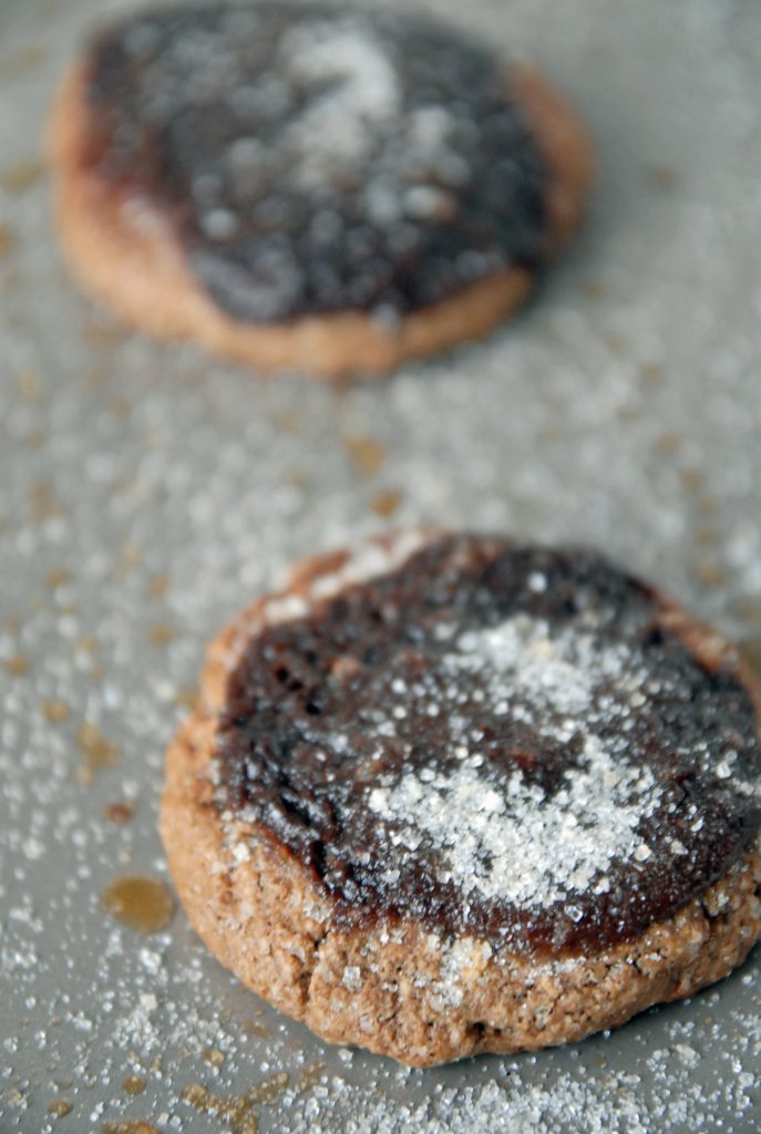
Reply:
[[[612,860],[648,861],[637,828],[658,805],[656,780],[595,735],[601,720],[623,720],[641,695],[646,671],[632,646],[576,623],[553,635],[543,619],[518,615],[459,635],[443,666],[460,679],[477,678],[484,710],[509,713],[548,747],[581,739],[582,754],[548,795],[519,768],[492,781],[477,744],[463,736],[454,770],[437,771],[432,753],[429,765],[370,793],[396,846],[415,852],[425,843],[443,864],[442,881],[522,907],[548,906],[591,886],[602,892]]]

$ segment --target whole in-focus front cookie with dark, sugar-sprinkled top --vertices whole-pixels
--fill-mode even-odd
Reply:
[[[212,643],[170,871],[222,964],[325,1040],[412,1066],[577,1040],[761,933],[756,697],[595,555],[381,539]]]

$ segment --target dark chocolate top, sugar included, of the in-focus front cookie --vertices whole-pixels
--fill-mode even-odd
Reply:
[[[761,819],[751,696],[606,560],[445,535],[250,643],[223,805],[353,924],[573,953],[725,874]]]

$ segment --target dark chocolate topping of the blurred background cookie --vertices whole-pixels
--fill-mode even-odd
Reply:
[[[423,19],[147,11],[93,45],[86,162],[169,218],[238,320],[415,311],[547,247],[504,65]]]

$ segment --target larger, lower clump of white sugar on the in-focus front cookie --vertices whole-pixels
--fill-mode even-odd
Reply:
[[[407,773],[392,789],[374,788],[369,803],[395,824],[392,840],[413,852],[423,836],[431,843],[446,863],[442,880],[533,907],[585,892],[614,857],[640,861],[646,844],[636,829],[658,790],[648,768],[619,764],[590,738],[583,765],[550,797],[518,771],[492,787],[466,763],[429,780]]]

